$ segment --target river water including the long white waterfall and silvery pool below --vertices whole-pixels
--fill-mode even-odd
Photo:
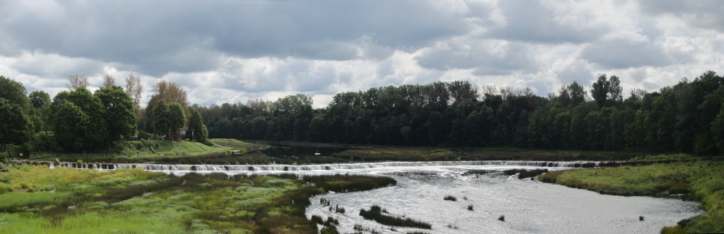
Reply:
[[[77,167],[62,162],[61,167]],[[512,168],[570,169],[583,162],[371,162],[327,165],[154,165],[114,164],[113,168],[143,168],[182,175],[185,173],[265,174],[337,173],[384,175],[396,186],[352,193],[329,193],[312,197],[306,216],[340,221],[340,233],[353,233],[360,225],[376,233],[659,233],[687,217],[702,214],[695,202],[643,196],[610,196],[565,186],[518,179],[500,171]],[[589,162],[590,163],[590,162]],[[51,168],[53,165],[51,165]],[[101,168],[101,165],[83,165]],[[104,168],[105,169],[105,168]],[[101,170],[104,170],[101,169]],[[455,196],[456,202],[445,201]],[[345,208],[345,214],[329,211],[321,198]],[[364,220],[360,209],[372,205],[389,215],[410,217],[432,224],[432,230],[399,228]],[[472,205],[473,210],[468,210]],[[505,215],[505,222],[498,217]],[[639,221],[639,216],[644,220]],[[365,232],[363,233],[371,233]]]

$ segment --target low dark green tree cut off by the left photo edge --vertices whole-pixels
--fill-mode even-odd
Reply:
[[[8,144],[22,144],[30,140],[30,119],[19,105],[12,105],[0,97],[0,152]]]

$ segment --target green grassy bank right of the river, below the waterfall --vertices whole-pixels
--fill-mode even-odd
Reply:
[[[539,175],[539,181],[601,194],[693,197],[707,212],[682,220],[662,233],[724,232],[724,162],[688,161],[618,168],[586,168]],[[679,195],[681,196],[681,195]]]

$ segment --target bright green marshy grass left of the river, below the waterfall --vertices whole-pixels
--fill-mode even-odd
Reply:
[[[8,188],[0,194],[0,233],[317,233],[304,215],[309,197],[390,180],[319,176],[318,186],[291,174],[174,176],[19,165],[0,173],[0,187]]]

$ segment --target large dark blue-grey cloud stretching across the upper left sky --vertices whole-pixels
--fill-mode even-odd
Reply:
[[[384,58],[465,32],[426,1],[5,1],[0,53],[40,50],[160,76],[219,66],[219,53],[323,60]],[[361,39],[367,38],[365,41]],[[359,51],[366,51],[360,54]]]

